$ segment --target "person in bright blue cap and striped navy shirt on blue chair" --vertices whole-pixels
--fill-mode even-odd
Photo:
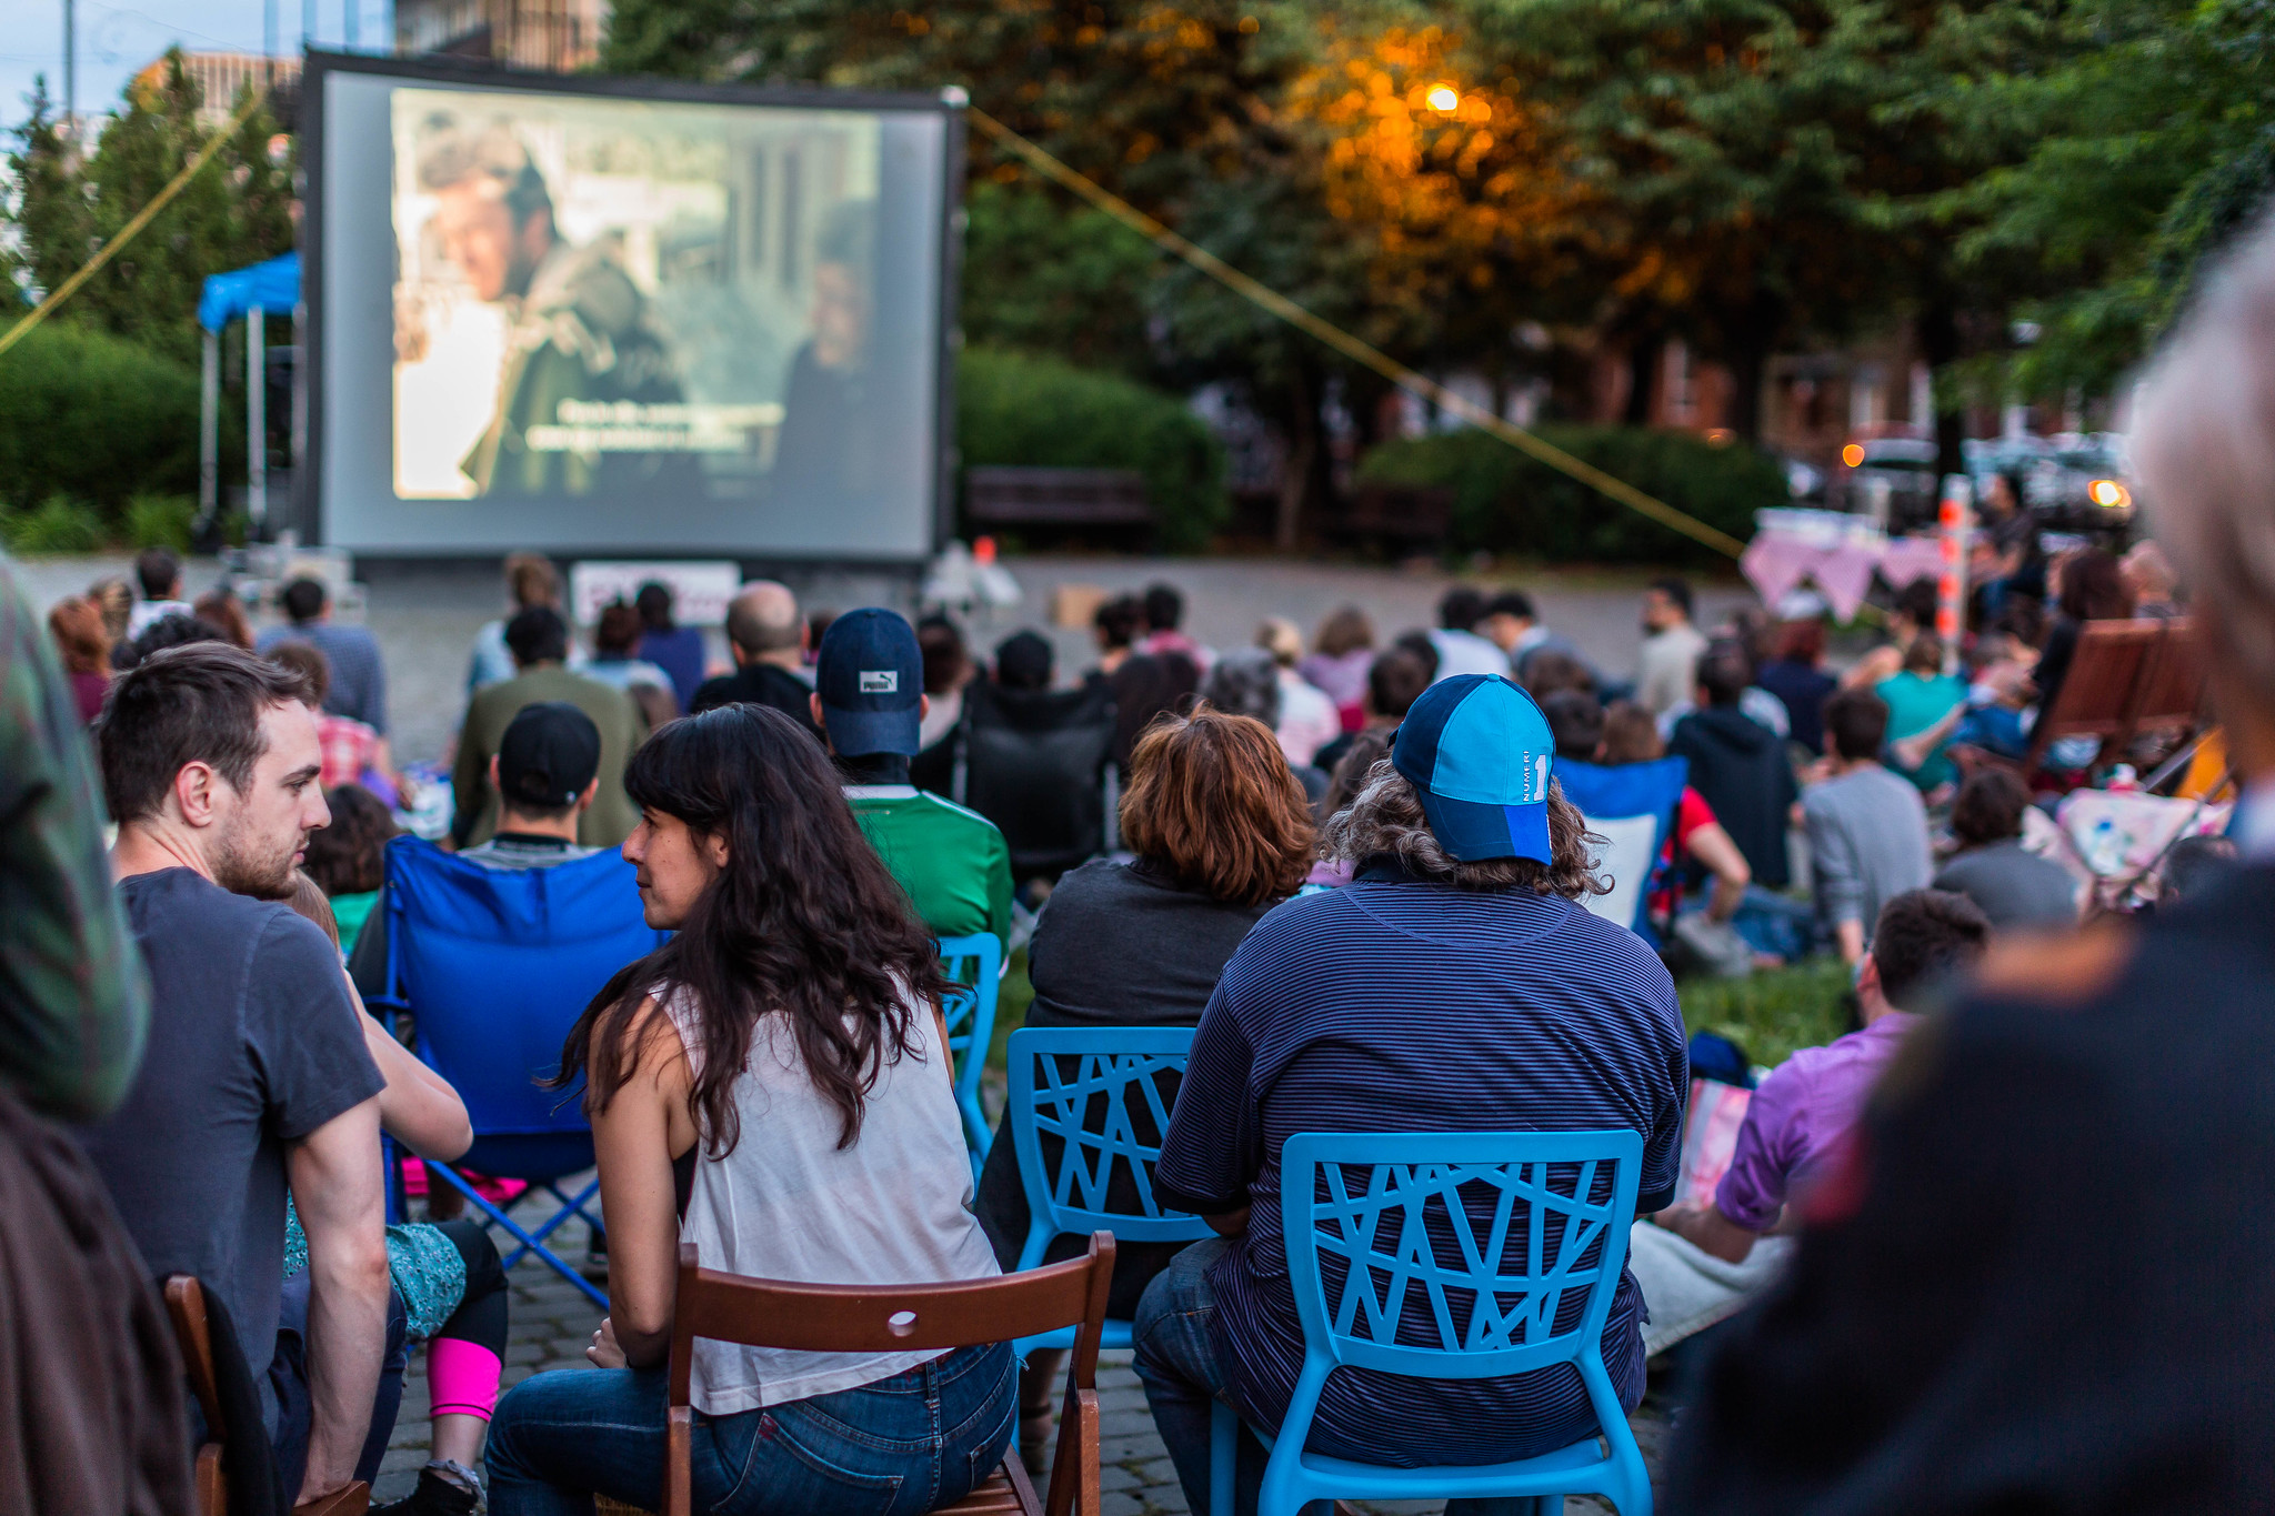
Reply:
[[[1458,775],[1445,793],[1438,789]],[[1674,982],[1602,893],[1552,736],[1504,677],[1433,684],[1390,757],[1326,825],[1358,877],[1290,900],[1233,952],[1192,1041],[1153,1193],[1219,1234],[1147,1286],[1133,1339],[1153,1425],[1192,1509],[1208,1509],[1210,1416],[1272,1427],[1304,1364],[1281,1239],[1294,1132],[1592,1132],[1643,1136],[1638,1207],[1674,1198],[1690,1064]],[[1413,1300],[1406,1309],[1424,1309]],[[1643,1300],[1622,1275],[1604,1366],[1643,1398]],[[1595,1436],[1579,1371],[1410,1380],[1345,1368],[1310,1452],[1374,1464],[1497,1464]],[[1242,1436],[1238,1511],[1263,1448]],[[1476,1502],[1454,1502],[1454,1516]],[[1490,1509],[1490,1507],[1488,1507]],[[1217,1511],[1215,1516],[1233,1516]]]

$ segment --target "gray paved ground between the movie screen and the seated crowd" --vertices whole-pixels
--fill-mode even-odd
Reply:
[[[1060,584],[1106,591],[1176,584],[1188,602],[1188,630],[1217,648],[1254,639],[1263,616],[1288,616],[1306,636],[1331,609],[1358,605],[1388,641],[1408,627],[1436,623],[1438,595],[1454,582],[1438,568],[1383,568],[1365,564],[1310,564],[1279,559],[1144,559],[1144,557],[1021,557],[1008,559],[1024,598],[1017,607],[981,616],[971,641],[992,648],[1019,627],[1040,627],[1058,645],[1060,675],[1072,677],[1094,661],[1087,630],[1049,627],[1046,616]],[[20,566],[41,614],[61,595],[84,591],[102,575],[125,575],[125,557],[32,559]],[[218,564],[189,568],[189,593],[198,595],[218,577]],[[1472,577],[1472,575],[1465,575]],[[796,575],[810,607],[855,605],[908,607],[908,584],[883,575]],[[1549,625],[1579,643],[1597,666],[1627,675],[1636,661],[1636,609],[1643,573],[1552,573],[1508,570],[1472,577],[1479,584],[1517,584],[1533,595]],[[1699,586],[1699,620],[1711,625],[1752,593],[1736,580]],[[369,625],[387,652],[389,716],[398,761],[441,759],[457,734],[466,702],[466,650],[475,630],[498,616],[503,591],[487,568],[384,568],[369,582]],[[714,655],[726,643],[712,634]]]

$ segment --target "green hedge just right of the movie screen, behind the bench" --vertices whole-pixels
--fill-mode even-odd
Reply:
[[[956,368],[956,448],[967,468],[1133,468],[1158,545],[1172,552],[1208,545],[1224,520],[1224,445],[1176,395],[992,348],[965,350]]]

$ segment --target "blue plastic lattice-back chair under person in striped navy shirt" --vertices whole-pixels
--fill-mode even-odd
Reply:
[[[1256,1434],[1272,1450],[1258,1516],[1297,1516],[1308,1500],[1329,1498],[1517,1498],[1556,1511],[1579,1493],[1604,1496],[1620,1516],[1649,1516],[1652,1480],[1602,1348],[1640,1168],[1643,1139],[1629,1130],[1290,1136],[1281,1148],[1281,1227],[1304,1373],[1279,1436]],[[1360,1184],[1354,1171],[1365,1175]],[[1597,1200],[1597,1189],[1608,1193]],[[1429,1221],[1440,1236],[1429,1234]],[[1565,1305],[1574,1291],[1583,1300],[1577,1314]],[[1492,1380],[1554,1364],[1579,1368],[1608,1452],[1588,1436],[1508,1464],[1388,1468],[1304,1450],[1335,1368]],[[1215,1516],[1233,1509],[1238,1443],[1238,1411],[1219,1400]]]

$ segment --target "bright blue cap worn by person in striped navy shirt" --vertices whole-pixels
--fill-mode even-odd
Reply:
[[[1399,723],[1390,761],[1422,798],[1438,846],[1463,864],[1549,850],[1556,736],[1533,698],[1490,673],[1438,680]]]

